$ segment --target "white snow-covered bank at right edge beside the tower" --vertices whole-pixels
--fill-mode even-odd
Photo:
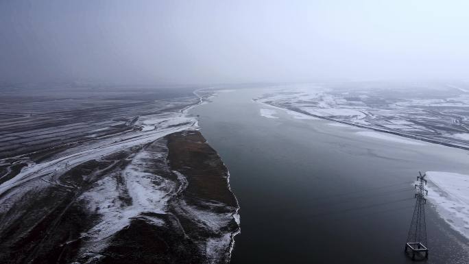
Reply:
[[[469,239],[469,175],[427,171],[428,199],[440,216]]]

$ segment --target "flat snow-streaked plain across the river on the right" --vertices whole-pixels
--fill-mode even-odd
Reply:
[[[291,84],[254,100],[297,115],[469,149],[468,86]]]

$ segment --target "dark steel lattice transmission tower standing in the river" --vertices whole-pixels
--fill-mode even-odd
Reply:
[[[412,259],[418,257],[429,257],[429,249],[426,248],[426,225],[425,225],[425,195],[428,195],[424,187],[426,185],[425,174],[417,177],[418,184],[415,184],[417,193],[415,197],[416,207],[413,209],[413,217],[411,221],[411,227],[409,228],[409,235],[407,235],[407,243],[405,243],[405,252],[409,254]]]

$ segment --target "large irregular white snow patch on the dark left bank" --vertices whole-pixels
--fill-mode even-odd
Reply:
[[[86,241],[108,239],[128,226],[132,218],[141,216],[141,213],[166,213],[167,202],[176,189],[176,184],[155,173],[149,173],[146,166],[147,160],[156,160],[163,156],[163,153],[143,150],[121,173],[122,182],[118,182],[117,175],[103,178],[80,197],[88,204],[89,211],[101,216],[100,221],[83,235]],[[117,197],[128,197],[128,202]]]

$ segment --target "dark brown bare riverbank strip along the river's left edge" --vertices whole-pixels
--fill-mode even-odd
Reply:
[[[189,211],[186,212],[197,212],[189,213],[189,215],[178,213],[178,215],[182,215],[183,219],[186,218],[184,220],[186,224],[191,222],[193,223],[191,226],[197,226],[197,228],[192,226],[192,228],[184,229],[190,230],[187,232],[189,237],[191,234],[197,234],[195,237],[204,237],[213,232],[209,231],[211,228],[219,230],[217,232],[220,232],[220,235],[226,232],[226,235],[229,235],[228,241],[222,239],[224,235],[207,238],[207,252],[213,252],[213,247],[215,247],[217,253],[212,256],[208,253],[206,263],[213,263],[210,261],[213,258],[228,263],[234,245],[234,237],[240,232],[237,214],[239,203],[230,189],[228,168],[199,131],[170,134],[167,136],[167,140],[169,165],[171,169],[184,175],[187,180],[186,188],[182,191],[178,201],[175,202],[178,204],[182,202],[184,204],[182,208],[189,208]],[[212,213],[208,213],[208,208],[211,208]],[[212,215],[211,220],[207,222],[207,224],[210,223],[208,226],[197,224],[206,221],[203,217],[204,214]],[[219,228],[219,224],[224,227]],[[223,252],[219,252],[219,250]]]

